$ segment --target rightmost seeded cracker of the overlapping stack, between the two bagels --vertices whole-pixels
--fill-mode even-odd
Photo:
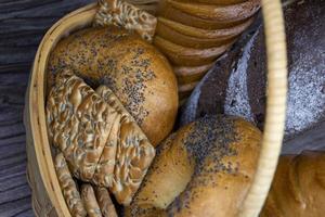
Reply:
[[[142,182],[155,156],[155,149],[110,89],[101,86],[96,91],[108,105],[121,114],[116,165],[109,189],[119,203],[127,205]]]

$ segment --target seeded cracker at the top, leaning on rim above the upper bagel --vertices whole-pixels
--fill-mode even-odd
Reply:
[[[136,7],[120,0],[100,0],[95,24],[116,25],[135,30],[143,39],[153,40],[157,18]]]

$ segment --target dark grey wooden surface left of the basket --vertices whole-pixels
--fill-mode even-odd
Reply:
[[[23,110],[30,66],[47,31],[93,0],[0,0],[0,217],[34,216]]]

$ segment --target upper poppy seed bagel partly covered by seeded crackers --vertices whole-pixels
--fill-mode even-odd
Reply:
[[[132,31],[86,28],[57,43],[49,60],[49,88],[69,67],[93,88],[108,86],[156,145],[173,127],[177,79],[166,58]]]

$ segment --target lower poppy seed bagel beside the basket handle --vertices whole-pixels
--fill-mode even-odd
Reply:
[[[157,150],[127,216],[236,216],[251,184],[261,132],[233,116],[206,116]]]

